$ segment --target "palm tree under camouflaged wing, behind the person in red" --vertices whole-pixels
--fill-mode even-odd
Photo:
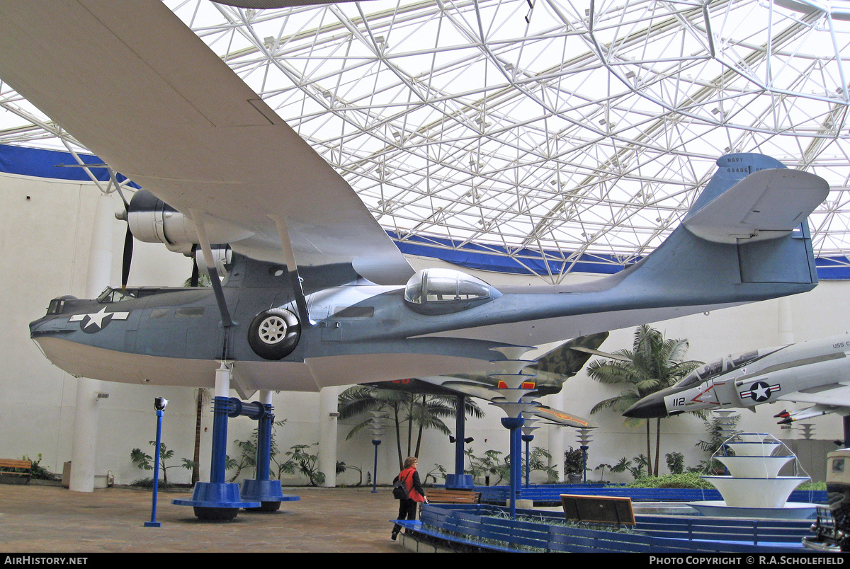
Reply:
[[[450,435],[449,427],[443,420],[456,416],[456,397],[407,393],[372,386],[349,387],[339,396],[339,418],[351,419],[368,411],[390,412],[395,428],[396,450],[399,454],[399,469],[404,465],[405,457],[418,456],[422,445],[422,432],[436,429]],[[466,398],[465,413],[473,417],[483,417],[484,412],[469,397]],[[346,440],[370,425],[366,419],[354,425]],[[407,453],[402,453],[402,425],[406,425]],[[416,431],[416,445],[413,433]]]

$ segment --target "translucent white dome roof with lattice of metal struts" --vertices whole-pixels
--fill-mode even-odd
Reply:
[[[403,251],[545,261],[551,282],[652,251],[729,152],[825,177],[813,246],[844,256],[844,4],[168,3]],[[0,144],[77,148],[3,83],[0,107]]]

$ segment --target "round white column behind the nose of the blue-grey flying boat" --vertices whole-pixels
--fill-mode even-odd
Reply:
[[[100,194],[94,211],[92,241],[88,249],[86,297],[95,298],[109,284],[112,273],[112,224],[115,206],[112,194]],[[94,492],[94,468],[98,445],[98,392],[100,381],[77,380],[74,409],[74,442],[71,448],[71,483],[75,492]]]

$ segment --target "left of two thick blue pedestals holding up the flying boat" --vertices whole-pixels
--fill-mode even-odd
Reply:
[[[240,403],[236,409],[232,402]],[[235,413],[235,414],[234,414]],[[224,482],[227,453],[227,419],[230,414],[241,414],[241,402],[232,397],[213,397],[212,399],[212,465],[210,482],[195,483],[192,499],[174,499],[172,504],[192,506],[195,515],[201,520],[229,521],[236,517],[240,508],[260,508],[259,501],[243,501],[239,493],[239,484]]]

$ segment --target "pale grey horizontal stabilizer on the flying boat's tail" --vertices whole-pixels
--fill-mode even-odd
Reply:
[[[823,178],[808,172],[758,170],[694,211],[683,225],[697,237],[714,243],[785,237],[829,192]]]

